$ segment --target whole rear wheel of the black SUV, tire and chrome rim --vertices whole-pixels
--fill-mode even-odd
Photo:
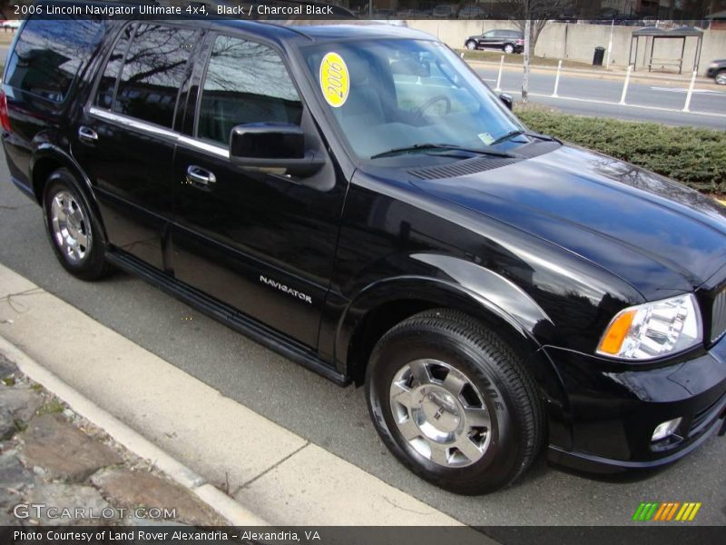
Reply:
[[[43,195],[45,231],[64,269],[82,280],[113,272],[106,263],[105,241],[74,175],[62,168],[50,175]]]

